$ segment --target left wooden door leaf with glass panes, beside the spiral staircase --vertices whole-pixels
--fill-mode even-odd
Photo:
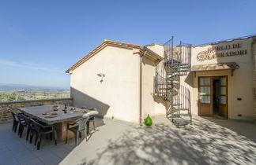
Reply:
[[[198,115],[213,116],[213,77],[198,78]]]

